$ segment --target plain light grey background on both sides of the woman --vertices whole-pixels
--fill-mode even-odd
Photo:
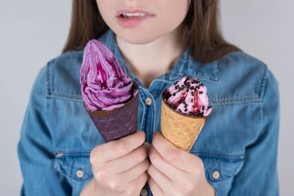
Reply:
[[[224,35],[268,64],[280,85],[278,172],[282,196],[293,193],[293,0],[221,0]],[[71,0],[0,0],[0,195],[17,196],[17,158],[33,81],[60,54],[70,25]],[[13,117],[13,118],[12,118]]]

